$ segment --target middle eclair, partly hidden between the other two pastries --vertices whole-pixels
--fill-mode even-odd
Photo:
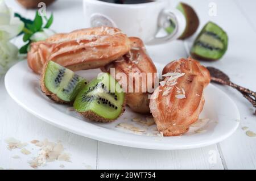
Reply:
[[[130,37],[129,39],[131,44],[130,52],[117,61],[106,65],[102,68],[102,71],[110,73],[110,68],[115,69],[115,78],[127,92],[126,103],[131,110],[139,113],[150,113],[147,82],[150,81],[149,83],[153,89],[156,79],[156,74],[154,74],[156,73],[156,68],[146,52],[143,41],[138,37]],[[126,81],[118,78],[118,73],[125,73],[127,76]],[[134,77],[142,76],[144,73],[146,75],[145,81],[140,79],[139,83],[138,81],[135,83],[135,79],[132,77],[129,79],[129,73],[135,73]],[[151,80],[147,78],[147,73],[152,73],[152,76],[148,77]],[[136,86],[138,86],[138,89],[136,89]]]

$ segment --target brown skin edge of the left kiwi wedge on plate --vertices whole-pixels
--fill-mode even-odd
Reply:
[[[47,65],[48,65],[48,62],[46,62],[46,64],[44,64],[43,66],[43,71],[42,71],[42,74],[41,74],[41,79],[40,79],[40,86],[41,86],[41,90],[44,94],[46,94],[46,96],[53,100],[54,102],[56,103],[59,103],[59,104],[68,104],[68,105],[73,105],[73,102],[67,102],[65,100],[62,100],[60,98],[58,98],[58,96],[56,94],[53,94],[51,91],[49,91],[46,87],[46,85],[44,85],[44,75],[46,73],[46,69],[47,69]]]

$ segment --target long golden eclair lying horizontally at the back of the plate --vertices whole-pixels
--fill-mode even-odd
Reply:
[[[100,68],[129,50],[130,41],[119,29],[97,27],[60,33],[32,43],[27,59],[36,73],[42,73],[48,60],[76,71]]]

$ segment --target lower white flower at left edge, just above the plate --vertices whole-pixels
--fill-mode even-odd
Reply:
[[[14,65],[18,54],[18,48],[9,41],[0,40],[0,75]]]

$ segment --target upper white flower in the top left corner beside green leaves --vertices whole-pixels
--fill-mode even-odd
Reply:
[[[0,0],[0,40],[10,40],[18,35],[24,28],[24,23],[14,17],[14,12],[9,9],[5,1]]]

